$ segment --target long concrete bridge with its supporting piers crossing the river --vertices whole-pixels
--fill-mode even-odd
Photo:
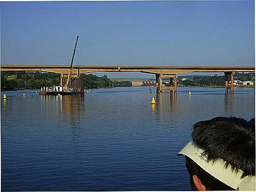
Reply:
[[[60,74],[60,86],[64,85],[64,81],[69,74],[69,65],[9,65],[2,64],[1,71],[27,71],[27,72],[49,72]],[[170,90],[177,92],[178,74],[186,73],[218,73],[225,74],[225,91],[234,91],[234,74],[235,72],[253,72],[255,67],[185,67],[185,66],[90,66],[77,65],[73,66],[72,77],[78,77],[82,73],[92,72],[141,72],[156,75],[156,90]],[[170,87],[162,87],[162,78],[170,78]],[[231,86],[228,81],[231,79]]]

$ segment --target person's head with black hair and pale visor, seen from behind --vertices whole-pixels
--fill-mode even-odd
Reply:
[[[179,153],[194,190],[255,190],[255,118],[213,118],[194,124]]]

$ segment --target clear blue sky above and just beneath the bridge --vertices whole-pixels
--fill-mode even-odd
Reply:
[[[1,64],[70,64],[76,35],[84,65],[255,63],[252,0],[2,2],[0,24]]]

